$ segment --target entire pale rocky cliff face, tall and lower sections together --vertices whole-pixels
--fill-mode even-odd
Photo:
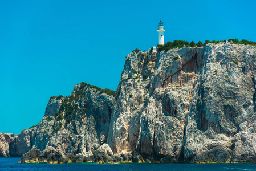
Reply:
[[[113,161],[255,161],[255,62],[255,46],[232,42],[132,52],[115,99],[78,84],[23,144],[90,156],[107,143]]]

